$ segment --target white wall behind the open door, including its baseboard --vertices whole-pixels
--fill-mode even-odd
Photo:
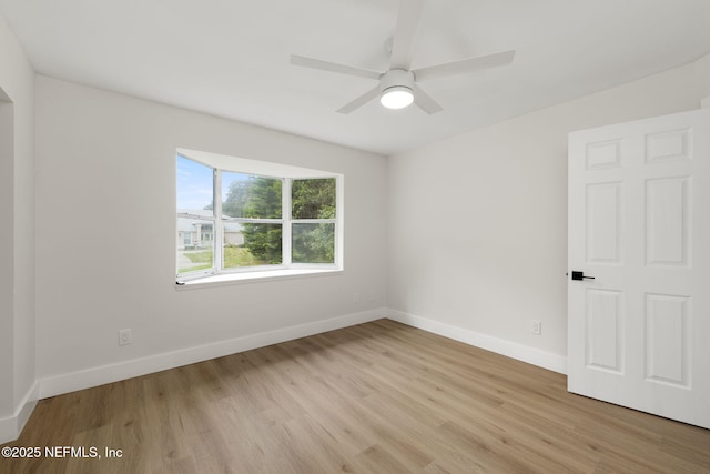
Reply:
[[[393,316],[564,371],[568,132],[697,109],[709,92],[706,57],[390,157]]]

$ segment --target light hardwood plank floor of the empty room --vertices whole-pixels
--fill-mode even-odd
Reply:
[[[7,446],[102,458],[0,458],[0,472],[710,472],[710,431],[565,387],[382,320],[42,400]]]

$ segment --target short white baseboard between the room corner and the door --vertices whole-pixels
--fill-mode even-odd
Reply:
[[[444,324],[426,317],[415,316],[414,314],[404,313],[402,311],[387,309],[386,314],[388,319],[413,327],[443,335],[455,341],[485,349],[486,351],[506,355],[554,372],[559,372],[560,374],[567,373],[567,357],[552,354],[551,352],[540,351],[539,349]]]

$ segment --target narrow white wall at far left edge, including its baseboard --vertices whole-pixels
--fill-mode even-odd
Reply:
[[[37,400],[33,95],[32,67],[0,17],[0,442]]]

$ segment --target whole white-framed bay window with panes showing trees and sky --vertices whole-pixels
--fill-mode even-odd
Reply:
[[[176,180],[179,281],[342,268],[342,175],[179,150]]]

